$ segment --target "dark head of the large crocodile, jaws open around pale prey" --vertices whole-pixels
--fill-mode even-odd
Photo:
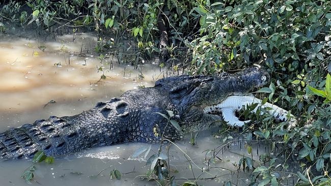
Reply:
[[[177,119],[182,130],[188,132],[219,125],[219,121],[223,120],[222,113],[212,105],[221,103],[229,96],[246,95],[256,87],[267,85],[269,80],[265,70],[253,67],[234,74],[171,77],[159,80],[155,85],[170,89],[169,97],[178,111]]]

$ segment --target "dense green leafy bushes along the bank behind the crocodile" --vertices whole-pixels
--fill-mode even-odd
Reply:
[[[286,170],[291,159],[300,161],[302,168],[295,173],[298,185],[327,185],[331,184],[331,78],[326,79],[331,71],[330,10],[330,1],[311,0],[5,1],[0,31],[14,23],[46,33],[86,27],[97,30],[99,37],[111,34],[116,41],[131,37],[151,55],[160,52],[161,17],[173,43],[169,49],[188,48],[192,58],[188,73],[215,74],[258,63],[272,77],[264,89],[268,100],[298,117],[299,125],[290,131],[286,123],[275,125],[267,114],[257,118],[262,125],[247,129],[266,141],[279,139],[286,154],[282,166],[272,161],[269,167],[257,168],[252,185],[278,185],[281,178],[274,173]],[[102,50],[105,45],[98,51]],[[258,175],[263,177],[255,180]]]

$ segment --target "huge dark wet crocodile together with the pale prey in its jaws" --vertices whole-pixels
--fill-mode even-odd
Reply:
[[[262,105],[261,100],[247,96],[269,80],[268,72],[258,67],[217,76],[163,78],[153,87],[128,90],[77,115],[50,116],[8,129],[0,134],[0,157],[31,158],[39,150],[54,157],[123,142],[158,142],[161,135],[157,134],[179,140],[184,133],[216,127],[224,120],[241,127],[249,121],[240,121],[234,113],[253,103],[270,107],[275,117],[286,120],[290,115],[286,110],[269,103]],[[178,126],[158,114],[167,110],[172,111],[171,119]],[[292,115],[289,121],[295,125]]]

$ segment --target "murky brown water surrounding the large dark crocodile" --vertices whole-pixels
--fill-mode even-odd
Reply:
[[[65,116],[90,109],[99,101],[118,97],[124,91],[139,86],[153,86],[155,78],[161,77],[157,65],[140,66],[144,79],[138,78],[141,71],[131,66],[119,65],[111,58],[100,63],[96,54],[91,52],[96,38],[81,34],[72,42],[72,35],[58,37],[56,41],[37,41],[36,39],[3,37],[0,41],[0,131],[18,127],[34,120],[46,119],[50,115]],[[44,51],[41,49],[45,46]],[[84,51],[80,56],[80,49]],[[41,49],[39,49],[39,48]],[[88,52],[88,48],[90,51]],[[70,53],[69,53],[70,51]],[[70,55],[70,65],[69,65]],[[113,63],[113,68],[112,64]],[[103,72],[106,79],[100,80]],[[125,67],[125,71],[124,71]],[[186,140],[177,142],[178,147],[170,148],[171,174],[182,183],[186,178],[199,184],[223,185],[224,181],[246,185],[245,179],[237,174],[232,163],[239,161],[246,150],[239,145],[232,146],[219,154],[209,171],[206,168],[207,149],[219,146],[220,140],[212,137],[213,131],[199,134],[198,145],[192,146]],[[143,157],[132,158],[136,149],[151,145],[147,158],[157,152],[159,144],[125,143],[108,147],[88,149],[77,154],[57,158],[53,164],[37,165],[34,185],[156,185],[156,181],[142,179],[148,166]],[[191,161],[185,158],[186,153]],[[254,159],[258,160],[256,154]],[[20,178],[24,169],[32,164],[31,160],[0,162],[0,185],[26,185]],[[122,172],[122,179],[110,179],[109,172],[114,168]],[[101,170],[99,176],[97,175]],[[92,177],[91,177],[92,176]],[[216,177],[211,179],[212,177]],[[237,181],[238,180],[238,181]]]

